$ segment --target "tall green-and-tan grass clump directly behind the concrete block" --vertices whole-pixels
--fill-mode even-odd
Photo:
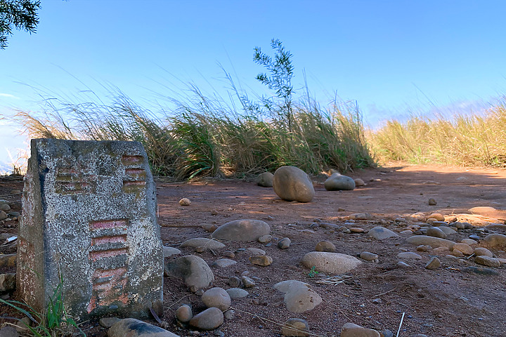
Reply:
[[[110,104],[52,98],[42,112],[18,112],[16,118],[32,138],[138,140],[156,175],[179,180],[242,178],[283,165],[316,174],[374,164],[355,107],[295,103],[289,131],[278,114],[247,107],[245,95],[233,89],[235,100],[228,103],[190,86],[185,98],[167,97],[171,107],[157,112],[122,93],[111,94]]]

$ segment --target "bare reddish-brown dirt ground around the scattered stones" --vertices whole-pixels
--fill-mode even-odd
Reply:
[[[200,297],[191,293],[179,279],[165,277],[164,317],[161,318],[168,323],[167,329],[180,336],[268,337],[280,336],[280,324],[287,319],[301,318],[309,323],[312,336],[339,336],[346,322],[378,331],[389,329],[396,336],[405,313],[398,336],[506,336],[504,265],[495,268],[497,276],[467,273],[463,272],[465,267],[476,265],[473,258],[450,258],[448,251],[416,251],[415,246],[406,243],[406,234],[377,241],[365,233],[344,234],[313,225],[315,221],[344,225],[351,213],[368,212],[372,214],[372,220],[356,220],[346,227],[359,227],[367,232],[382,225],[401,232],[412,225],[424,225],[410,218],[411,214],[438,212],[474,223],[474,228],[459,230],[458,234],[448,237],[454,242],[460,242],[471,234],[480,237],[491,232],[506,234],[501,228],[484,227],[488,222],[504,222],[502,212],[495,216],[495,220],[462,215],[469,213],[467,210],[474,206],[506,209],[506,170],[391,165],[347,175],[362,178],[367,185],[353,191],[327,192],[323,188],[325,178],[320,177],[315,180],[316,197],[306,204],[283,201],[272,188],[259,187],[247,181],[157,181],[158,221],[166,246],[178,247],[186,239],[208,237],[209,232],[202,225],[222,225],[237,219],[264,220],[271,225],[271,234],[275,239],[289,237],[292,241],[290,247],[283,250],[278,249],[275,242],[271,245],[226,243],[226,249],[235,252],[233,259],[238,263],[231,267],[213,267],[215,281],[212,286],[228,289],[228,278],[240,276],[246,271],[249,277],[258,279],[257,286],[247,289],[250,293],[248,297],[233,300],[233,318],[226,319],[217,332],[197,333],[176,324],[174,311],[182,303],[192,305],[194,313],[203,310],[204,306]],[[22,189],[22,181],[0,180],[0,199],[11,201],[13,210],[20,211],[20,195],[10,194],[13,189]],[[190,206],[179,205],[183,197],[192,201]],[[429,198],[434,198],[437,205],[429,206]],[[15,220],[1,223],[0,233],[14,235],[17,227]],[[335,244],[338,253],[351,256],[358,256],[363,251],[376,253],[379,262],[364,261],[343,278],[344,282],[321,284],[320,281],[328,275],[320,273],[309,277],[309,270],[302,267],[300,261],[322,240]],[[266,255],[273,258],[273,263],[267,267],[252,265],[248,253],[241,250],[249,247],[264,249]],[[183,254],[196,254],[209,265],[221,258],[223,252],[181,251]],[[409,260],[406,262],[410,267],[398,267],[396,256],[401,251],[416,251],[422,260]],[[0,243],[0,253],[13,252],[15,244]],[[504,251],[493,250],[493,253],[498,258],[506,258]],[[424,266],[432,256],[439,256],[441,267],[427,270]],[[13,270],[0,268],[0,273],[3,272]],[[287,311],[282,294],[273,289],[274,284],[287,279],[310,284],[323,298],[323,303],[301,314]],[[2,310],[8,312],[0,306],[0,312]],[[12,312],[8,314],[13,315]],[[155,321],[152,323],[156,324]],[[106,335],[105,329],[100,328],[97,322],[88,322],[83,329],[88,336]]]

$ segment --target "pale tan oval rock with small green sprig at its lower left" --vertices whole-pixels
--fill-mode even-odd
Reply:
[[[344,274],[361,264],[361,260],[342,253],[326,251],[311,251],[302,258],[305,267],[312,268],[325,274]]]

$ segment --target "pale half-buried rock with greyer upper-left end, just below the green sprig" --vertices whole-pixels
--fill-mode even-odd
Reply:
[[[290,312],[306,312],[322,302],[321,296],[309,284],[290,279],[274,285],[274,289],[285,293],[285,305]]]

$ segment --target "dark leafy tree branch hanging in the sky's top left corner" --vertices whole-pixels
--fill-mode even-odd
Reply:
[[[25,29],[30,34],[37,31],[39,8],[38,0],[0,0],[0,49],[7,47],[13,28]]]

